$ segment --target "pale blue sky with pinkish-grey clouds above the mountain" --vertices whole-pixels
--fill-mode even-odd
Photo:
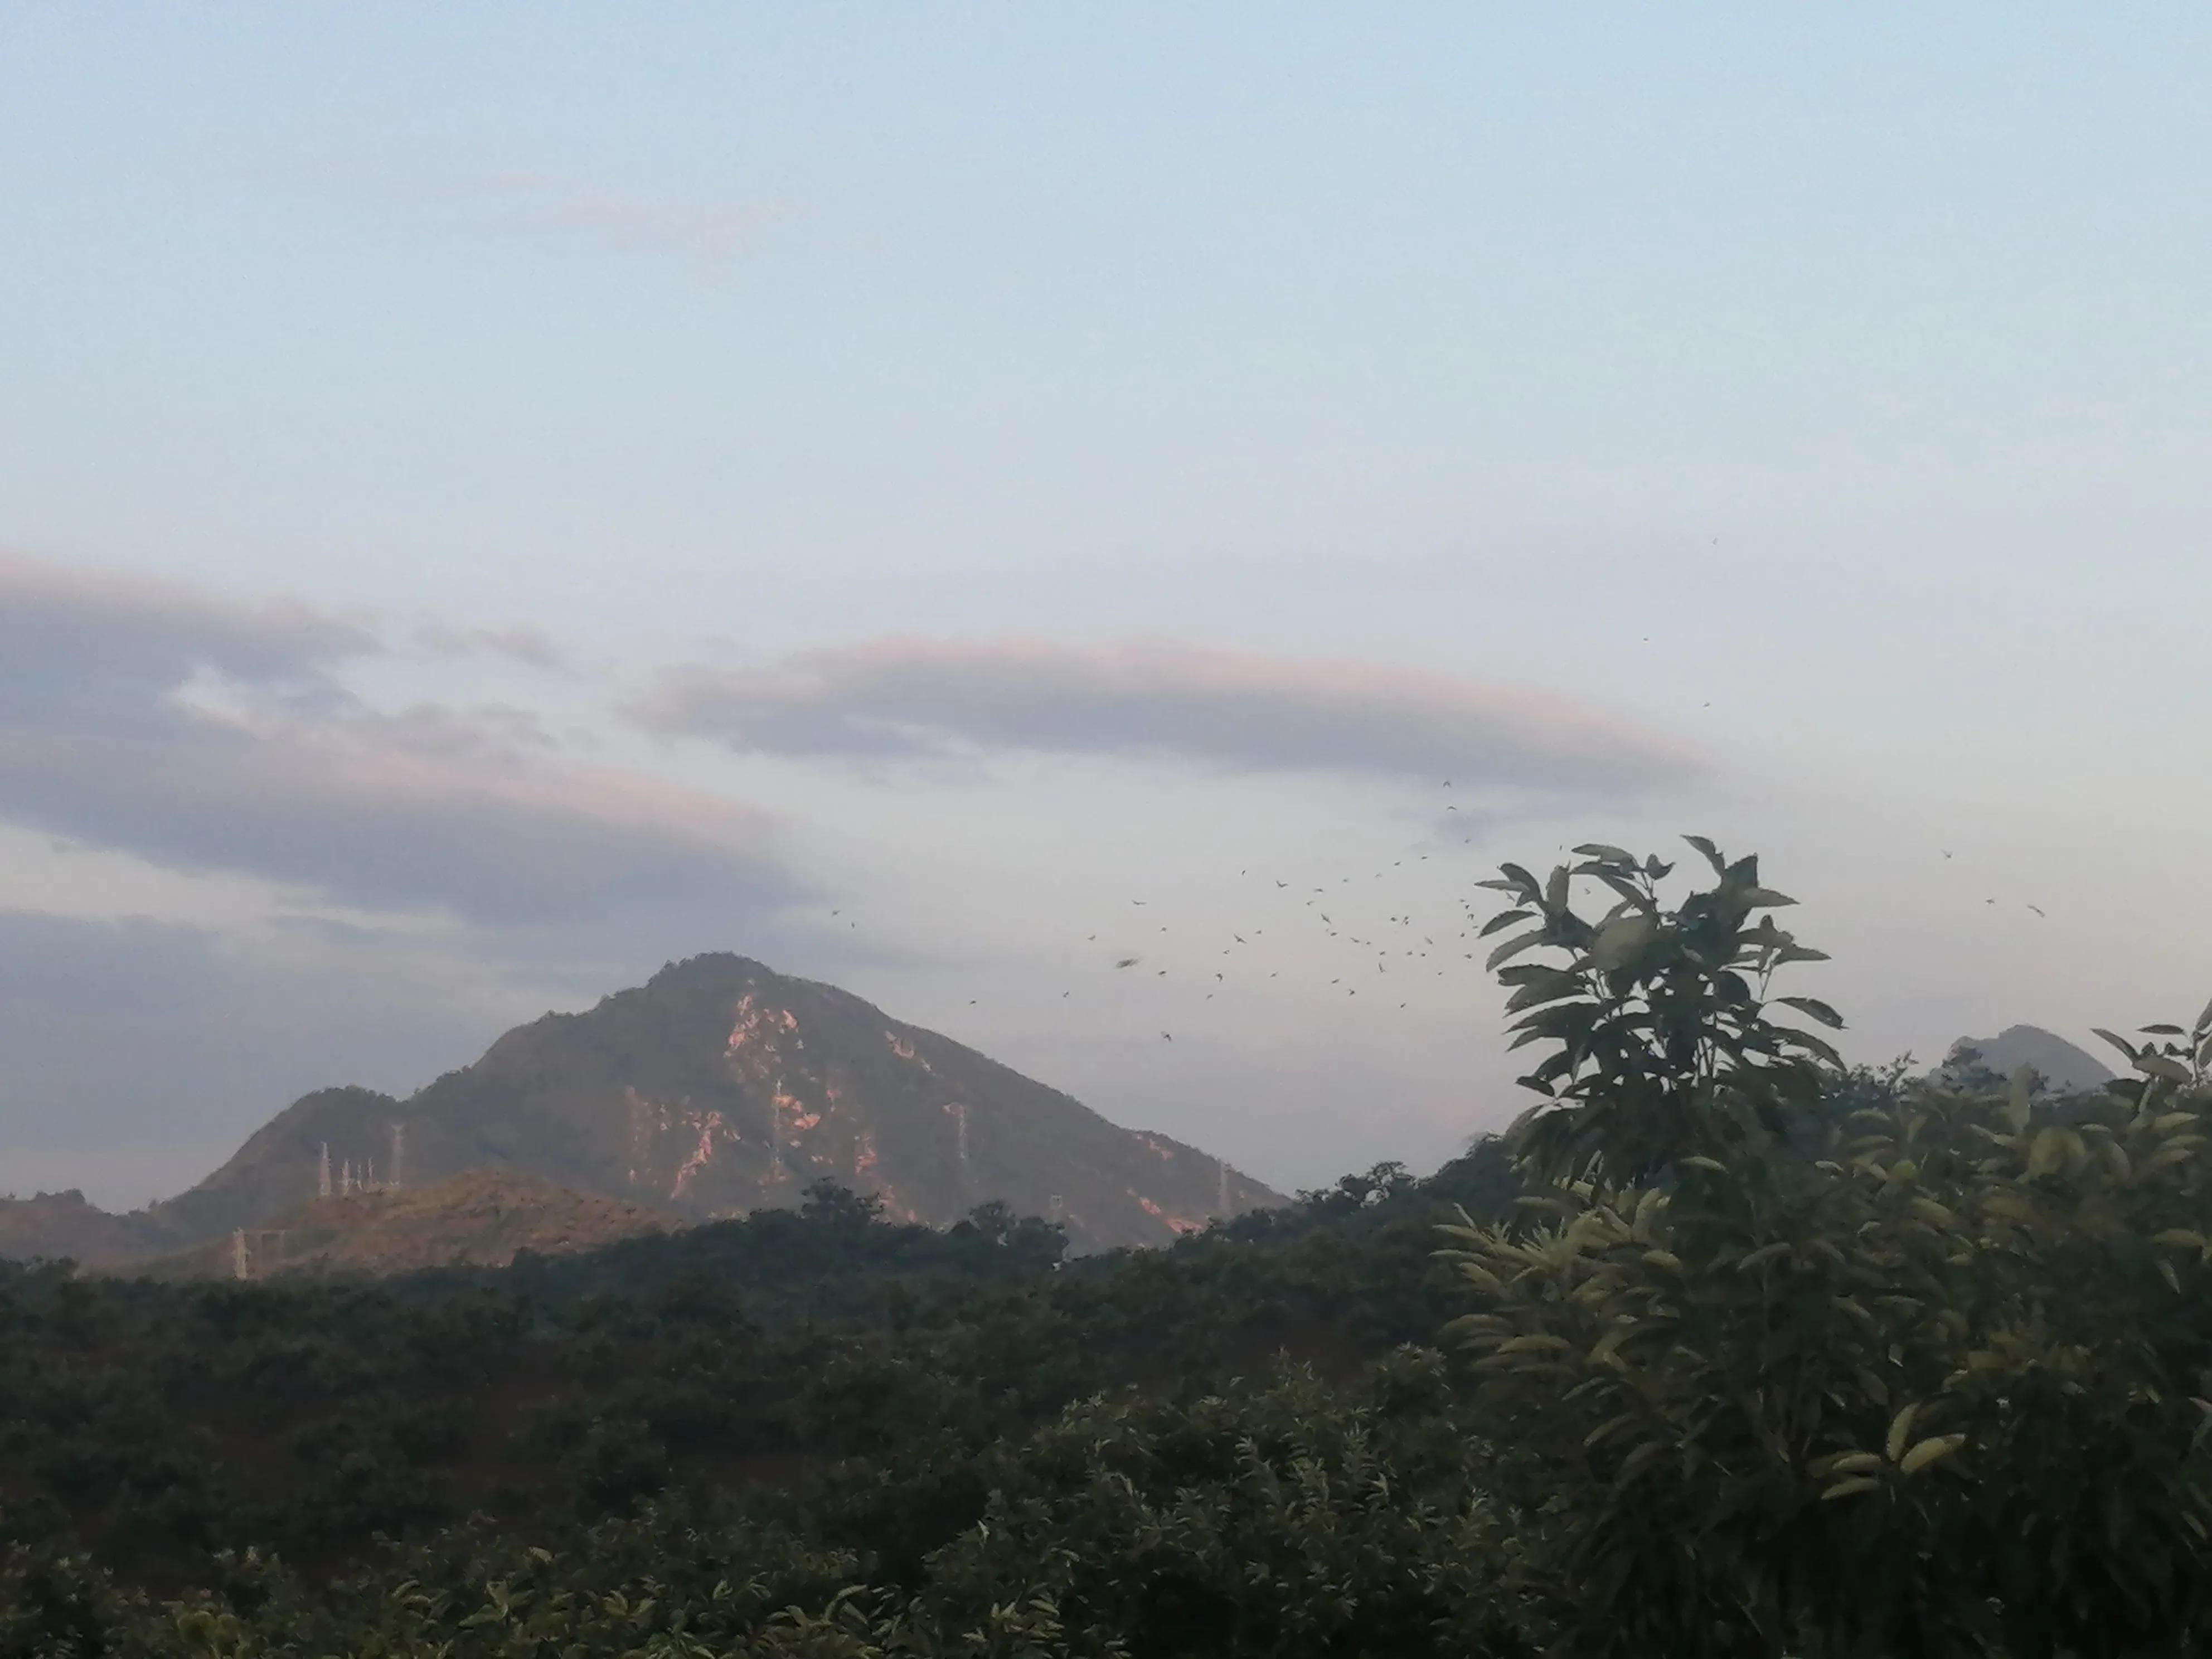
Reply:
[[[1431,1168],[1528,1099],[1473,883],[1582,841],[1761,854],[1854,1060],[2185,1022],[2208,73],[2192,4],[0,11],[0,1190],[699,951]]]

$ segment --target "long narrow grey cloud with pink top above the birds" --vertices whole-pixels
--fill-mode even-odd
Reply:
[[[878,639],[765,668],[684,668],[628,714],[661,734],[790,757],[1170,757],[1559,794],[1635,792],[1697,770],[1688,750],[1542,692],[1166,644]]]

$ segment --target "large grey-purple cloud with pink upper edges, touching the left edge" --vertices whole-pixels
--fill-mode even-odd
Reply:
[[[520,710],[378,714],[356,624],[0,562],[0,818],[347,902],[546,922],[794,896],[770,821],[562,765]]]

